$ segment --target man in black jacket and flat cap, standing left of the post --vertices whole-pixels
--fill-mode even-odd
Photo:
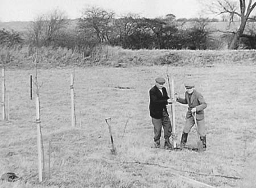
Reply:
[[[160,137],[162,126],[164,129],[164,148],[172,149],[170,143],[170,136],[172,133],[171,121],[167,112],[166,105],[172,103],[174,100],[168,97],[166,88],[163,86],[166,82],[164,78],[158,77],[155,79],[155,86],[149,91],[150,94],[150,116],[154,126],[154,141],[155,147],[160,148]]]

